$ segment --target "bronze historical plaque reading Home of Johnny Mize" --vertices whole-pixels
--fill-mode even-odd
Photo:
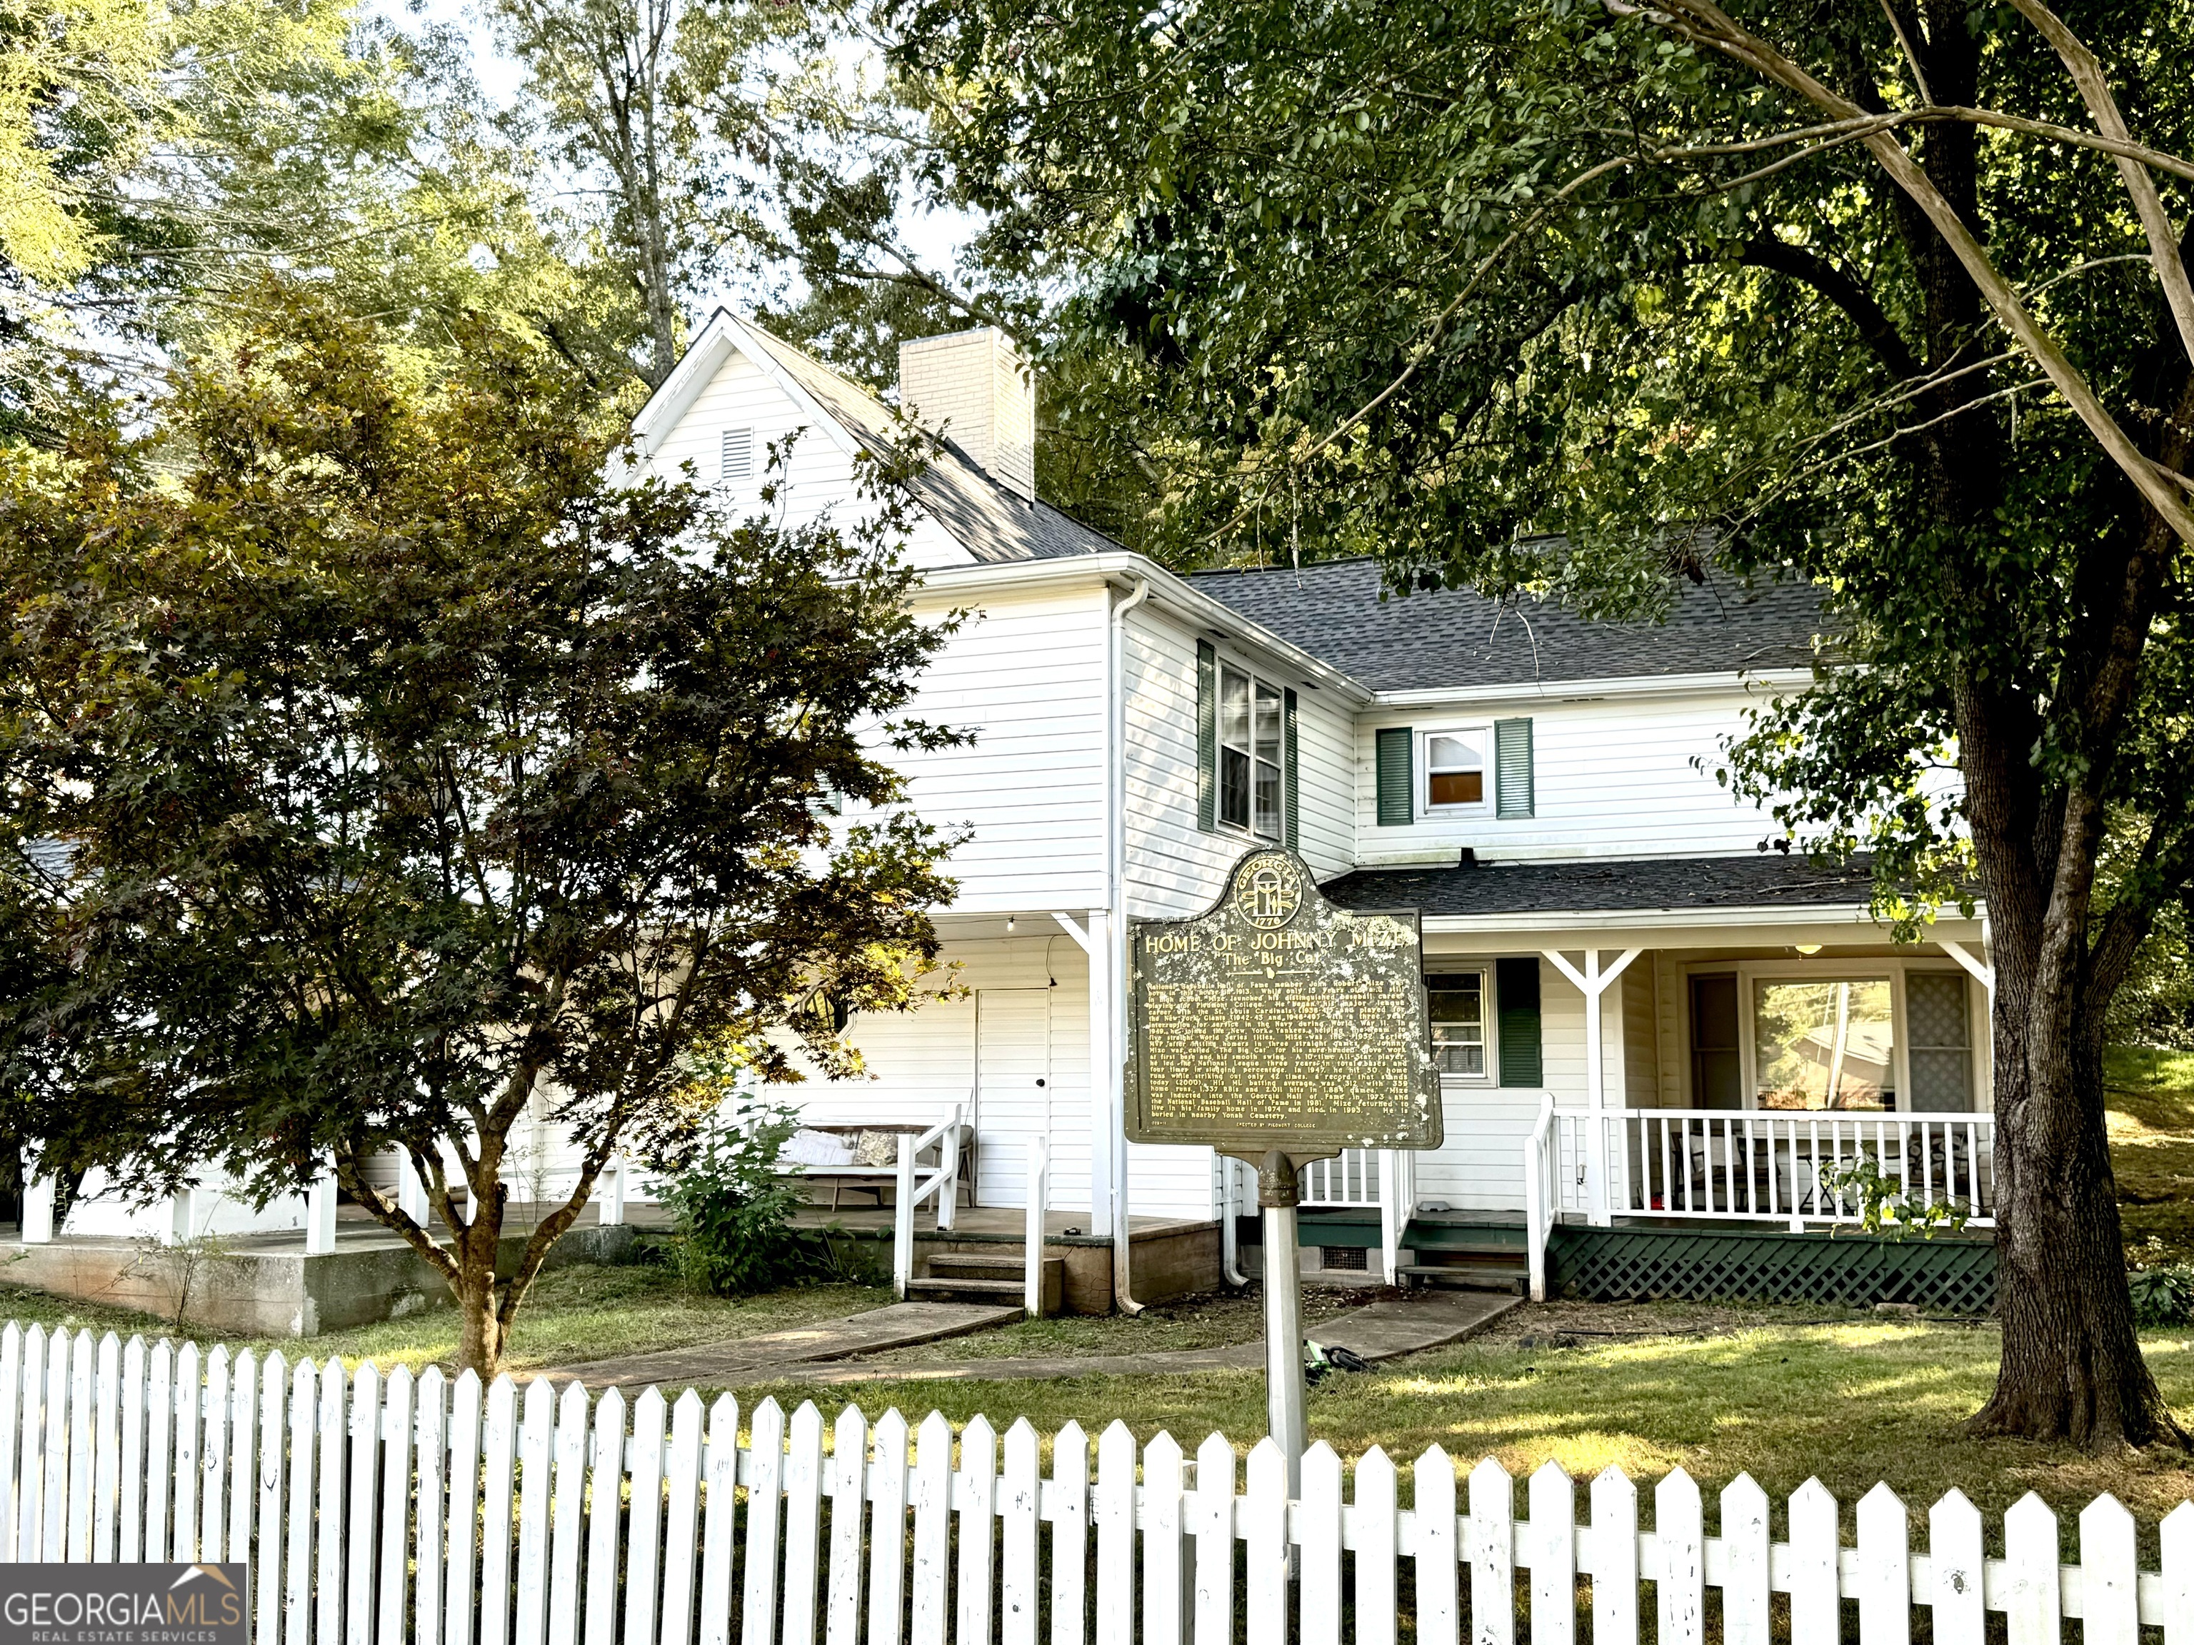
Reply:
[[[1128,985],[1136,1143],[1439,1147],[1415,910],[1336,908],[1292,851],[1251,851],[1211,912],[1134,921]]]

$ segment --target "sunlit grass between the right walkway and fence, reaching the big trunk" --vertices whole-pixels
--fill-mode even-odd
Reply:
[[[2181,1421],[2194,1423],[2194,1331],[2148,1331],[2144,1347]],[[1551,1303],[1518,1309],[1472,1342],[1327,1377],[1310,1391],[1310,1432],[1349,1459],[1371,1445],[1395,1459],[1441,1445],[1466,1461],[1499,1456],[1516,1476],[1547,1459],[1580,1480],[1610,1463],[1643,1480],[1681,1465],[1709,1494],[1740,1472],[1771,1496],[1817,1474],[1843,1502],[1847,1531],[1852,1505],[1876,1480],[1900,1491],[1915,1518],[1953,1485],[1986,1513],[2029,1489],[2058,1511],[2113,1491],[2148,1524],[2194,1498],[2187,1454],[2089,1456],[1966,1439],[1959,1423],[1994,1375],[1994,1325]],[[849,1404],[842,1386],[792,1377],[739,1399],[753,1406],[766,1393],[785,1406],[814,1397],[827,1417]],[[1246,1452],[1264,1432],[1264,1380],[1233,1371],[921,1382],[878,1366],[858,1404],[871,1417],[897,1406],[911,1419],[941,1410],[954,1423],[1025,1415],[1047,1437],[1068,1419],[1093,1434],[1126,1421],[1141,1441],[1165,1430],[1191,1450],[1220,1430]]]

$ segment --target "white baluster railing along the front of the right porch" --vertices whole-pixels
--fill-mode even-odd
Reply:
[[[1832,1110],[1613,1108],[1553,1110],[1553,1211],[1595,1222],[1856,1224],[1865,1211],[1845,1173],[1871,1162],[1913,1206],[1948,1206],[1968,1228],[1997,1211],[1994,1114]],[[1606,1204],[1593,1204],[1599,1149]]]

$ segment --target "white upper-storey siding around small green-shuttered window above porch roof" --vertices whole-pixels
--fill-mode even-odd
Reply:
[[[1356,840],[1362,862],[1424,860],[1472,847],[1481,858],[1700,858],[1751,851],[1771,822],[1738,805],[1714,781],[1722,739],[1742,730],[1757,702],[1742,687],[1687,697],[1523,700],[1468,711],[1391,711],[1362,715],[1356,730]],[[1378,825],[1376,733],[1382,726],[1485,724],[1531,719],[1536,816],[1496,818],[1488,772],[1483,814]],[[1692,761],[1698,759],[1700,768]],[[1422,790],[1424,759],[1415,757]],[[1422,798],[1422,794],[1420,794]]]

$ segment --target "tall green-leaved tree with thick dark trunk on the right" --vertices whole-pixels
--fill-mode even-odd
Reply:
[[[1731,774],[1806,844],[1871,847],[1907,937],[1986,895],[2003,1366],[1975,1426],[2179,1437],[2102,1040],[2194,877],[2194,13],[900,22],[908,72],[965,88],[963,175],[1079,248],[1064,347],[1110,439],[1167,458],[1169,553],[1362,548],[1402,588],[1591,610],[1733,572],[1830,592],[1834,667]]]

